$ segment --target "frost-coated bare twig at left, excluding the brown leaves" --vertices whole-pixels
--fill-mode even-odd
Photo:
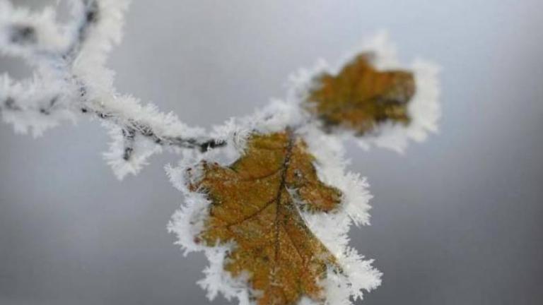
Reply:
[[[49,8],[30,13],[0,0],[1,51],[21,56],[36,68],[34,78],[21,83],[3,76],[4,121],[16,131],[30,129],[40,136],[59,121],[75,121],[76,114],[95,116],[122,135],[115,137],[122,144],[112,143],[105,154],[119,178],[136,174],[146,157],[161,147],[206,152],[226,145],[201,128],[189,128],[173,114],[161,114],[151,105],[141,107],[134,98],[117,94],[112,72],[104,64],[112,45],[120,41],[127,4],[126,0],[72,0],[74,20],[63,31]],[[136,145],[139,141],[152,144]]]

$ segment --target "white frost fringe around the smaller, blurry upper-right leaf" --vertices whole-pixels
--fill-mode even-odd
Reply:
[[[438,80],[440,67],[424,59],[414,59],[409,65],[400,64],[395,44],[390,41],[386,31],[376,33],[335,65],[320,59],[312,68],[303,68],[293,73],[288,81],[288,102],[297,105],[303,103],[308,98],[308,92],[317,85],[315,76],[322,73],[337,75],[346,63],[361,53],[372,54],[372,64],[378,70],[404,69],[414,74],[416,92],[408,107],[411,123],[407,126],[390,122],[380,124],[372,133],[364,136],[355,136],[353,132],[346,130],[334,131],[332,134],[344,140],[354,140],[365,150],[376,146],[403,153],[410,140],[423,142],[429,133],[437,133],[441,116]]]

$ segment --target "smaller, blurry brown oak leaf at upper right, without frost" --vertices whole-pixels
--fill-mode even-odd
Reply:
[[[305,108],[322,120],[327,131],[340,127],[362,135],[384,121],[409,124],[413,74],[378,71],[371,64],[372,56],[360,54],[336,76],[322,73],[315,78]]]

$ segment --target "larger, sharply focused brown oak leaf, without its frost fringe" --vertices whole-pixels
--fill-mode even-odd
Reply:
[[[229,167],[202,162],[201,179],[189,186],[211,201],[199,242],[235,241],[223,268],[233,277],[250,274],[259,305],[297,304],[303,296],[322,301],[327,268],[341,272],[300,214],[333,213],[341,202],[341,192],[318,179],[313,160],[288,129],[254,134],[243,157]]]

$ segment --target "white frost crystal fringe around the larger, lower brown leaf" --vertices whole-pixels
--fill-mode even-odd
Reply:
[[[238,299],[239,304],[251,304],[247,283],[250,275],[233,278],[223,270],[223,260],[235,245],[209,247],[194,242],[194,237],[204,229],[204,220],[207,217],[207,208],[210,202],[202,193],[189,191],[187,185],[190,181],[187,181],[185,171],[187,168],[197,169],[194,165],[202,160],[228,166],[243,155],[244,140],[247,135],[252,132],[270,133],[280,130],[279,128],[285,127],[283,124],[279,124],[280,121],[284,124],[292,123],[293,116],[291,113],[289,114],[292,109],[288,107],[288,104],[278,102],[271,108],[275,111],[274,115],[267,116],[269,109],[264,109],[262,112],[257,112],[252,119],[250,117],[242,119],[241,121],[245,123],[242,126],[226,124],[226,126],[217,128],[218,133],[221,133],[222,136],[230,135],[228,137],[229,143],[237,143],[237,151],[232,152],[230,158],[224,158],[217,152],[211,151],[204,155],[185,156],[184,160],[176,167],[167,167],[170,180],[185,197],[184,203],[173,215],[168,230],[177,234],[176,244],[181,246],[185,255],[192,251],[204,251],[209,260],[209,266],[204,270],[204,279],[200,280],[198,284],[206,289],[209,299],[214,299],[220,293],[226,299]],[[281,108],[284,112],[277,112]],[[268,122],[271,121],[273,124],[259,124],[261,130],[255,131],[253,124],[264,116],[268,118]],[[366,225],[369,222],[370,205],[368,201],[372,196],[368,192],[368,183],[358,174],[345,172],[347,162],[344,161],[344,152],[339,140],[323,134],[316,126],[311,125],[300,128],[297,133],[298,136],[303,137],[308,144],[308,150],[315,157],[314,165],[319,178],[343,193],[341,208],[337,213],[303,213],[303,217],[315,236],[327,246],[329,251],[334,253],[344,268],[344,275],[337,275],[329,270],[326,279],[322,282],[327,296],[327,304],[351,304],[349,301],[351,297],[361,299],[364,290],[369,291],[380,285],[381,273],[371,266],[373,261],[365,260],[349,246],[348,233],[351,225]],[[322,143],[328,145],[322,145]],[[227,145],[227,147],[232,146]],[[192,172],[192,179],[198,179],[198,176],[197,172]],[[300,304],[314,303],[310,299],[304,298],[300,300]]]

